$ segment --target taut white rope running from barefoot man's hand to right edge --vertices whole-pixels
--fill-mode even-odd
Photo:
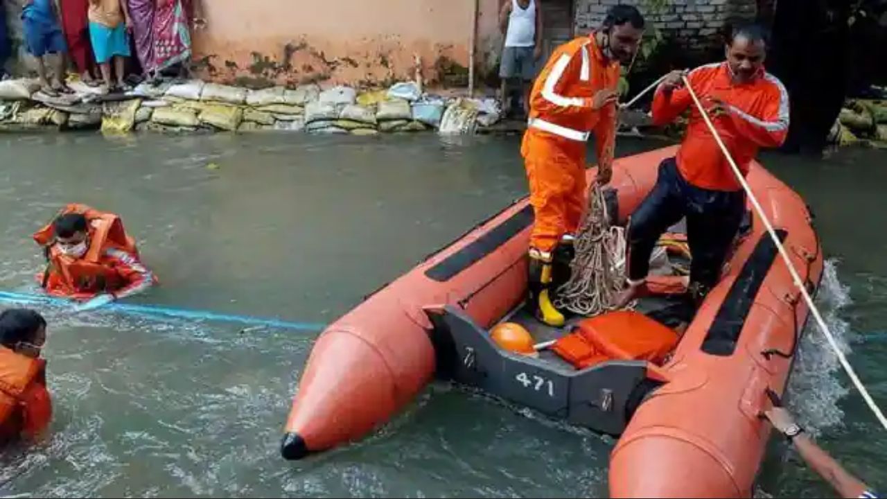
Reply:
[[[782,259],[785,261],[785,265],[789,267],[789,273],[791,273],[791,278],[795,281],[795,285],[797,289],[801,290],[801,294],[804,296],[805,302],[807,302],[807,307],[810,309],[810,312],[813,314],[813,319],[816,320],[816,323],[820,327],[820,331],[825,335],[826,339],[828,339],[828,345],[831,346],[832,350],[835,351],[837,355],[837,359],[841,361],[841,365],[844,367],[844,370],[847,371],[847,376],[850,376],[853,384],[856,385],[856,389],[860,391],[860,395],[862,398],[866,400],[868,407],[872,409],[872,412],[875,413],[878,421],[881,422],[882,426],[885,430],[887,430],[887,418],[884,417],[881,409],[878,408],[877,404],[875,404],[875,400],[872,399],[871,395],[868,394],[866,387],[860,381],[860,378],[856,376],[856,372],[853,370],[850,362],[847,361],[847,358],[844,357],[844,352],[841,352],[841,348],[837,345],[835,337],[832,335],[831,330],[828,329],[828,325],[826,321],[822,319],[822,315],[820,314],[819,309],[813,303],[812,297],[810,297],[810,293],[807,292],[807,288],[804,285],[804,281],[801,280],[801,276],[798,275],[797,270],[795,270],[795,265],[792,265],[791,260],[789,259],[789,253],[786,251],[785,247],[782,246],[782,242],[779,240],[779,237],[776,235],[776,231],[773,230],[773,225],[770,223],[770,220],[766,217],[764,213],[764,209],[761,208],[759,202],[757,202],[757,197],[754,193],[751,192],[751,187],[748,182],[745,181],[745,177],[742,175],[742,171],[739,170],[739,167],[736,166],[736,162],[734,162],[733,156],[727,151],[726,146],[724,145],[723,140],[721,140],[718,131],[715,129],[714,125],[711,124],[711,120],[709,118],[708,113],[703,108],[703,104],[699,101],[699,98],[696,97],[695,91],[690,86],[690,82],[687,80],[687,76],[684,76],[684,84],[687,86],[687,91],[690,92],[690,97],[693,98],[693,101],[696,107],[699,108],[699,112],[703,115],[703,120],[705,120],[705,124],[708,125],[709,130],[711,131],[711,135],[714,136],[715,140],[718,142],[718,146],[721,149],[721,152],[724,153],[727,162],[730,163],[730,167],[733,169],[734,175],[739,180],[740,184],[742,184],[742,188],[745,189],[746,194],[749,194],[749,199],[751,201],[751,205],[757,211],[757,215],[761,218],[761,221],[764,222],[764,226],[767,229],[767,233],[770,234],[770,237],[773,239],[773,243],[776,245],[776,248],[779,249],[779,253]]]

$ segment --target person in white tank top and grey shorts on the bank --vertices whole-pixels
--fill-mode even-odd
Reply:
[[[499,77],[499,99],[504,115],[514,113],[509,84],[519,89],[523,112],[530,112],[530,83],[536,77],[536,61],[542,56],[542,8],[539,0],[506,0],[499,12],[499,27],[505,35]]]

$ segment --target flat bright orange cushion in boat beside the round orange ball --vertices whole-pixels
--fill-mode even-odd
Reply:
[[[577,323],[552,346],[575,368],[608,360],[647,360],[661,364],[678,345],[679,335],[642,313],[609,312]]]

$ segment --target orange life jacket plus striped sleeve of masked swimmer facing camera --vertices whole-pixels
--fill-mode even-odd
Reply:
[[[37,280],[48,293],[77,299],[103,292],[126,297],[156,282],[138,261],[136,242],[126,234],[120,217],[82,204],[69,204],[60,214],[67,213],[86,216],[90,248],[82,258],[63,254],[55,244],[51,223],[34,234],[35,242],[47,249],[49,266]]]

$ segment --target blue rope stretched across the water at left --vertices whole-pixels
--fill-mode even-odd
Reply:
[[[64,298],[48,297],[31,293],[16,293],[12,291],[0,291],[0,302],[16,303],[22,305],[58,305],[71,306],[71,301]],[[278,319],[263,319],[248,315],[232,315],[228,313],[215,313],[202,310],[184,310],[156,305],[129,305],[112,303],[106,305],[107,310],[119,313],[132,313],[141,315],[175,317],[177,319],[191,319],[195,321],[237,322],[249,326],[265,326],[277,329],[295,329],[306,332],[318,332],[326,328],[325,324],[318,322],[292,322]]]

